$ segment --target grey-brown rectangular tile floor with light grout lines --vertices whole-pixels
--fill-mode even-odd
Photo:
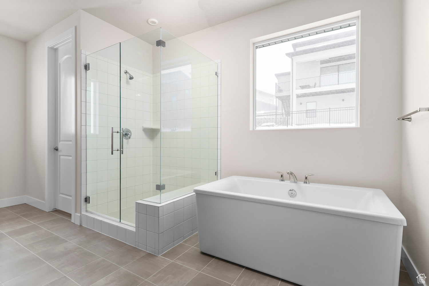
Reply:
[[[291,286],[199,251],[198,234],[155,256],[62,211],[0,208],[1,286]],[[412,286],[401,265],[399,286]]]

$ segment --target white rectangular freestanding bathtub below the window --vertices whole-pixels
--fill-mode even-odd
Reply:
[[[202,252],[303,286],[398,285],[406,221],[382,190],[233,176],[194,192]]]

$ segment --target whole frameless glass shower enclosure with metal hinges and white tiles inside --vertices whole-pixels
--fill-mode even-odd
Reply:
[[[87,211],[135,226],[217,180],[218,63],[161,28],[86,59]]]

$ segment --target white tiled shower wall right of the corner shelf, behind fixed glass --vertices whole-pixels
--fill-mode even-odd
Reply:
[[[220,65],[220,61],[193,64],[161,75],[163,193],[218,179]],[[159,143],[157,137],[154,145]],[[159,156],[159,150],[154,154]],[[159,176],[159,158],[153,162],[153,173]],[[159,184],[156,179],[153,184]]]

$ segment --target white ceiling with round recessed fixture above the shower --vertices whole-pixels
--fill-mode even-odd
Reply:
[[[134,36],[183,36],[287,0],[0,0],[0,34],[27,42],[82,9]],[[146,23],[158,20],[157,26]]]

